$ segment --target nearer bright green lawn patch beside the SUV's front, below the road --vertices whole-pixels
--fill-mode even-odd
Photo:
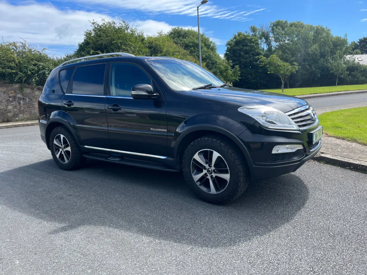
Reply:
[[[367,107],[323,113],[319,120],[325,134],[367,145]]]

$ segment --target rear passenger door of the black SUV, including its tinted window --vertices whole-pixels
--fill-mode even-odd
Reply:
[[[77,66],[62,99],[62,110],[76,122],[83,146],[109,148],[105,112],[106,63]]]

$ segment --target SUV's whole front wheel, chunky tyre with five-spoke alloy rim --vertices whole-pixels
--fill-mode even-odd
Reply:
[[[193,141],[183,155],[182,168],[189,187],[210,203],[233,201],[249,183],[242,153],[222,137],[204,136]]]

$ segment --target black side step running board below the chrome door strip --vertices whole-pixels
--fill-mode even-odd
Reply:
[[[86,158],[90,158],[90,159],[113,162],[117,164],[125,164],[125,165],[131,165],[131,166],[137,166],[137,167],[143,167],[143,168],[155,169],[155,170],[162,170],[162,171],[168,171],[168,172],[179,172],[179,170],[177,169],[173,169],[169,166],[165,166],[162,164],[158,164],[158,163],[154,163],[150,161],[137,160],[137,159],[126,159],[126,158],[119,157],[116,155],[103,156],[103,155],[97,155],[97,154],[83,154],[83,156]]]

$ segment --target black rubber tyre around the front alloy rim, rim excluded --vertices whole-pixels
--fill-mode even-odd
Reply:
[[[218,194],[204,191],[193,179],[192,159],[197,152],[204,149],[219,153],[231,175],[225,189]],[[242,152],[232,142],[219,136],[204,136],[194,140],[183,155],[182,170],[186,183],[195,194],[202,200],[214,204],[225,204],[238,198],[250,182],[248,166]]]

